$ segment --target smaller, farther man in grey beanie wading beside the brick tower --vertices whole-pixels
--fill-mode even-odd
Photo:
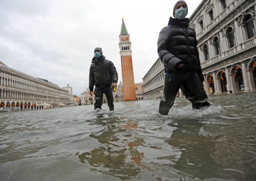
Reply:
[[[101,109],[104,93],[107,97],[109,110],[114,111],[114,98],[111,85],[113,83],[113,86],[116,87],[117,81],[118,75],[113,62],[105,59],[105,56],[102,55],[102,49],[100,47],[96,47],[94,49],[94,57],[92,58],[89,74],[89,89],[91,96],[95,85],[94,110],[97,108]]]

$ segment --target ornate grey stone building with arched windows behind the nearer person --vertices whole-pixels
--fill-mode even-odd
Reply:
[[[191,15],[208,95],[256,90],[255,4],[203,0]],[[143,77],[143,98],[161,98],[163,88],[164,65],[158,58]]]

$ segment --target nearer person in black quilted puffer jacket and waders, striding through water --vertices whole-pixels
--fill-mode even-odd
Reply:
[[[173,16],[164,27],[157,41],[157,52],[164,63],[164,94],[159,113],[167,115],[175,97],[182,90],[193,108],[209,106],[202,82],[204,76],[200,65],[195,31],[188,27],[188,7],[185,1],[178,1],[173,7]]]

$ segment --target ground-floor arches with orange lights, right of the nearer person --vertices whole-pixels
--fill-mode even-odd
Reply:
[[[204,74],[207,94],[256,90],[255,57],[222,66]]]

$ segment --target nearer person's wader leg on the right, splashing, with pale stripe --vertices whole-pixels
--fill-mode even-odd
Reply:
[[[188,79],[182,83],[180,89],[185,97],[192,103],[194,109],[210,106],[203,84],[197,74],[188,77]]]

